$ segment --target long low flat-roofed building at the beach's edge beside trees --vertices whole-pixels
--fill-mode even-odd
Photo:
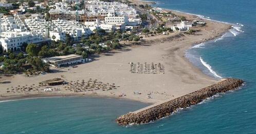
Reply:
[[[77,63],[83,63],[85,60],[83,59],[83,56],[77,55],[77,54],[70,54],[65,56],[55,56],[51,58],[44,58],[42,59],[43,62],[49,63],[53,66],[65,66],[70,64],[77,64]]]

